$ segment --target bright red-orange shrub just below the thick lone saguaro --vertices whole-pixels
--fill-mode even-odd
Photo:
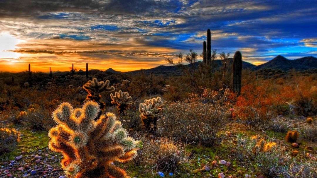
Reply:
[[[285,102],[282,95],[267,85],[244,86],[237,98],[235,115],[250,129],[267,130],[277,110]]]

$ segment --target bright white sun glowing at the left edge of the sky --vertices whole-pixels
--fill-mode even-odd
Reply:
[[[15,59],[20,57],[20,53],[12,52],[15,50],[16,45],[23,40],[17,39],[10,33],[0,34],[0,59]]]

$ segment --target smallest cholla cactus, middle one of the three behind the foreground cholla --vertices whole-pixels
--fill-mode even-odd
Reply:
[[[132,97],[129,96],[128,92],[122,92],[121,90],[119,92],[115,92],[114,95],[111,93],[110,97],[112,99],[112,104],[118,105],[118,113],[120,115],[124,115],[124,111],[133,103]]]

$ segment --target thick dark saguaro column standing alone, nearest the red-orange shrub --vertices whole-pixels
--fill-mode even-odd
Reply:
[[[233,92],[240,95],[241,93],[241,77],[242,77],[242,55],[240,51],[236,51],[233,56]]]

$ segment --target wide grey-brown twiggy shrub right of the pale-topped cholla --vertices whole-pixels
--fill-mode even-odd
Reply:
[[[229,90],[211,91],[194,95],[188,101],[170,102],[165,116],[159,121],[158,132],[187,143],[212,146],[222,140],[220,131],[225,127],[226,112],[230,108]]]

